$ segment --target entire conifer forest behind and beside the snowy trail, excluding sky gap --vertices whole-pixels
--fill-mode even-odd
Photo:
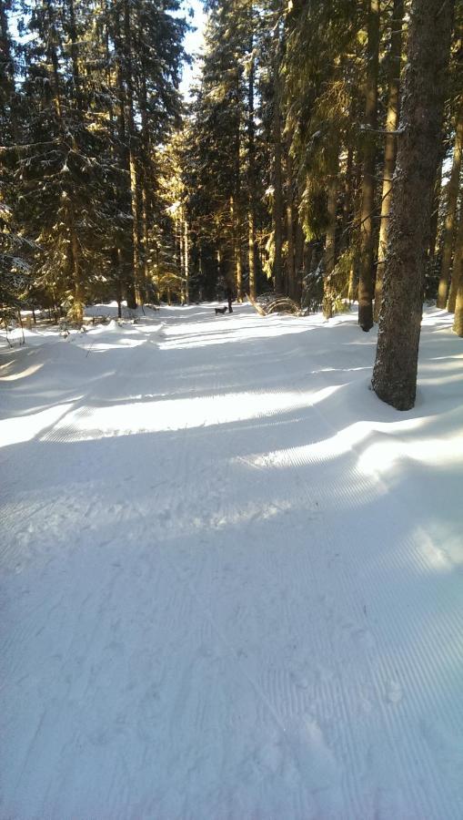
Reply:
[[[463,335],[461,2],[0,0],[2,318],[274,290],[379,319],[415,398],[424,300]],[[186,15],[186,16],[185,16]]]

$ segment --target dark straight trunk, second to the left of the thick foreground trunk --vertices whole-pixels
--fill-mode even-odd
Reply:
[[[369,0],[367,21],[367,83],[362,210],[360,217],[360,269],[358,323],[363,331],[373,327],[373,210],[375,207],[375,159],[377,128],[377,72],[379,63],[379,0]]]

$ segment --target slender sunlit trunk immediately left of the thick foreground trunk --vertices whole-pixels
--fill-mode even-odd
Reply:
[[[389,81],[388,81],[388,115],[386,130],[388,134],[384,147],[383,191],[381,199],[381,222],[379,226],[379,242],[377,247],[377,282],[375,287],[375,321],[379,317],[381,306],[381,291],[383,287],[383,270],[388,247],[388,220],[392,196],[392,177],[396,167],[398,114],[399,114],[399,87],[400,62],[402,56],[402,24],[404,18],[404,0],[394,0],[391,19],[391,38],[389,50]]]

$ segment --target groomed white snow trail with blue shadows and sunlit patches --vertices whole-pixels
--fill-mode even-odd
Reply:
[[[463,817],[463,342],[162,308],[3,348],[2,820]]]

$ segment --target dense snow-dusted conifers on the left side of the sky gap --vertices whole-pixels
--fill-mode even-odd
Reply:
[[[81,322],[88,299],[152,300],[175,243],[164,181],[181,123],[178,0],[0,8],[1,302],[25,290]]]

